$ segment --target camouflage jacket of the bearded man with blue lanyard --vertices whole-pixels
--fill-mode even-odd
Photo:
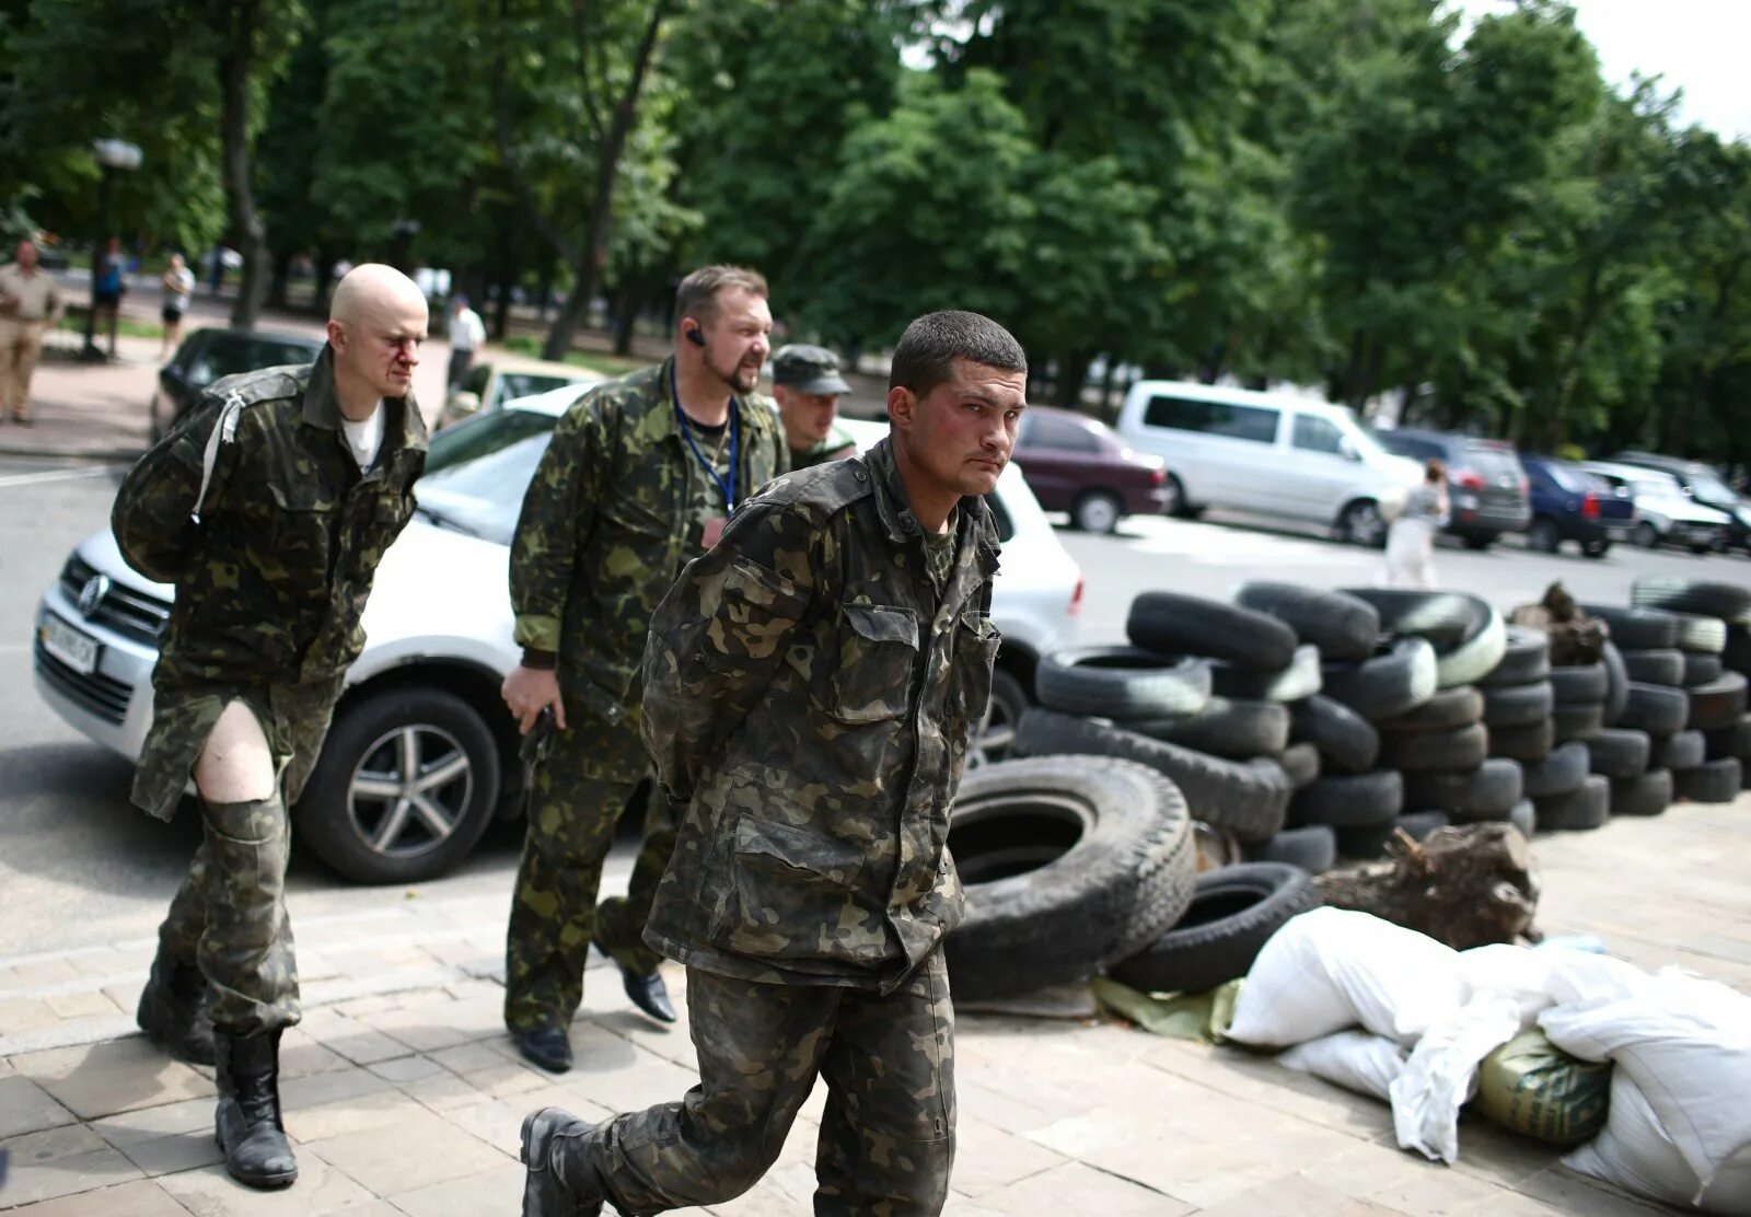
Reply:
[[[560,681],[618,723],[637,702],[644,630],[664,592],[699,553],[688,462],[674,417],[674,361],[583,394],[524,496],[511,543],[517,643],[557,651]],[[784,471],[784,438],[762,397],[739,404],[735,499]]]

